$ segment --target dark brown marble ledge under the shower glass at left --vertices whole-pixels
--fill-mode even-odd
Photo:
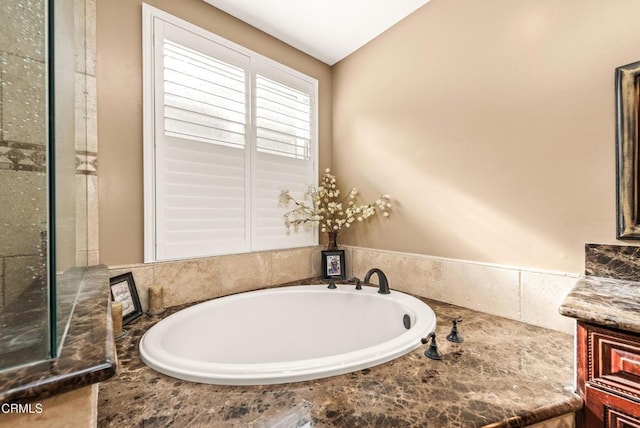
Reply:
[[[28,403],[104,381],[116,372],[106,266],[89,268],[62,352],[54,360],[0,372],[0,403]],[[2,424],[0,415],[0,425]]]

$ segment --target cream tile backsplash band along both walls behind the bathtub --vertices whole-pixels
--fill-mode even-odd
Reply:
[[[419,254],[344,247],[347,276],[382,269],[392,289],[511,318],[568,334],[574,320],[558,307],[578,275],[444,259]],[[322,247],[266,251],[185,261],[114,266],[132,272],[143,309],[148,288],[164,287],[175,306],[321,275]],[[375,279],[375,277],[374,277]]]

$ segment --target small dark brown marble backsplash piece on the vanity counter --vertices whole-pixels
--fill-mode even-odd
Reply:
[[[587,276],[640,281],[640,247],[586,244],[584,256]]]

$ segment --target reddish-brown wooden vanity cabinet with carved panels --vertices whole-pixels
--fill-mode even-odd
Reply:
[[[578,321],[579,427],[640,428],[640,334]]]

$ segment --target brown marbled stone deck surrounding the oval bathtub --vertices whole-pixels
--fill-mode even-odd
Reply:
[[[425,358],[420,346],[370,369],[267,386],[197,384],[148,368],[142,334],[188,305],[145,315],[117,341],[120,367],[100,384],[98,426],[517,427],[581,408],[570,335],[423,300],[438,317],[444,360]],[[460,316],[464,343],[453,344],[445,336]]]

